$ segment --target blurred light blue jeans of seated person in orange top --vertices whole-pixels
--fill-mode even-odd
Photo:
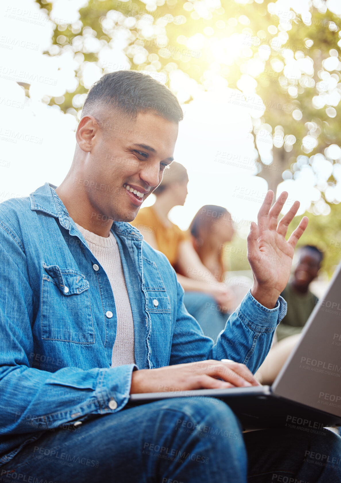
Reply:
[[[203,292],[185,292],[183,303],[187,312],[199,322],[204,334],[216,341],[230,314],[220,312],[216,300]]]

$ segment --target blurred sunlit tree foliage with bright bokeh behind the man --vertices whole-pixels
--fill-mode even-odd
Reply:
[[[90,85],[122,69],[149,73],[180,103],[228,85],[240,91],[241,105],[263,110],[252,117],[258,176],[275,193],[283,180],[311,185],[300,244],[326,250],[332,270],[341,241],[341,1],[90,0],[72,24],[56,20],[53,2],[36,1],[55,23],[45,54],[74,60],[64,95],[44,100],[64,113],[79,119]],[[230,262],[247,266],[246,259]]]

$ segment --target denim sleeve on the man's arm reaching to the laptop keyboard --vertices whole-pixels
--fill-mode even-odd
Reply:
[[[22,242],[1,220],[0,258],[0,433],[31,433],[122,409],[134,364],[55,372],[30,367],[34,293]]]

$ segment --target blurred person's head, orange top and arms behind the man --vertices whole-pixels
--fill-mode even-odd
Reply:
[[[168,258],[185,292],[193,292],[201,300],[206,296],[206,303],[221,307],[226,321],[227,313],[234,304],[232,290],[218,281],[202,262],[193,247],[191,234],[182,231],[168,218],[174,206],[184,205],[188,193],[187,184],[187,170],[173,161],[164,170],[162,182],[153,191],[155,203],[140,209],[131,224],[141,231],[145,241]]]

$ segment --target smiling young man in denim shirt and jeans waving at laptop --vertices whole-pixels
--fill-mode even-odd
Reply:
[[[258,384],[308,223],[285,241],[299,203],[277,224],[287,194],[270,208],[267,193],[248,237],[252,289],[217,343],[205,337],[166,257],[126,223],[173,160],[181,118],[152,78],[107,74],[89,91],[61,185],[0,204],[3,481],[336,481],[305,461],[340,455],[334,433],[242,435],[214,398],[126,406],[131,393]]]

